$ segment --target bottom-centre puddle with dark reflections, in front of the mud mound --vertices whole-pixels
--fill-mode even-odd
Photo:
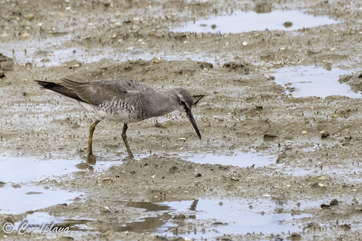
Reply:
[[[159,218],[158,227],[155,227],[154,222],[147,225],[147,223],[145,223],[147,222],[147,219],[145,219],[143,221],[143,226],[134,225],[134,222],[132,222],[127,224],[127,227],[124,227],[124,229],[133,232],[159,233],[167,236],[211,238],[214,237],[215,234],[222,235],[223,233],[287,233],[289,231],[300,231],[299,227],[292,226],[292,220],[308,217],[306,214],[293,217],[291,214],[269,212],[269,210],[273,210],[271,207],[278,206],[269,201],[246,203],[241,200],[200,199],[155,204],[163,207],[165,211],[148,209],[146,206],[148,205],[147,203],[144,203],[143,208],[146,212],[154,212],[157,215],[157,218]],[[251,207],[251,205],[253,207]],[[182,231],[178,228],[176,233],[175,228],[178,224],[177,218],[175,219],[174,216],[179,214],[184,214],[186,216],[186,223],[203,223],[205,230],[194,231],[194,228],[191,228],[191,232],[189,232]]]

